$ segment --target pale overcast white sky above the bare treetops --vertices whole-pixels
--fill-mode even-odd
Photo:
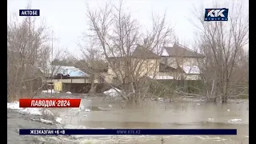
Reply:
[[[8,0],[8,15],[18,15],[18,10],[25,9],[31,4],[31,9],[40,10],[40,18],[54,32],[54,46],[61,50],[68,50],[71,54],[81,54],[78,43],[86,29],[86,3],[92,8],[104,6],[106,0]],[[112,0],[117,3],[118,0]],[[174,32],[179,40],[190,43],[194,38],[195,26],[192,10],[196,8],[213,8],[213,3],[218,2],[222,7],[228,8],[230,2],[241,2],[245,13],[249,13],[249,0],[124,0],[132,16],[139,20],[141,26],[148,26],[151,14],[163,15],[166,13],[166,22],[174,26]]]

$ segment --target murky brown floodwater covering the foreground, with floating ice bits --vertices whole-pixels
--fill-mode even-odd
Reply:
[[[83,98],[84,110],[54,109],[65,128],[216,128],[237,129],[237,136],[79,136],[80,143],[215,144],[249,143],[249,102],[123,102]]]

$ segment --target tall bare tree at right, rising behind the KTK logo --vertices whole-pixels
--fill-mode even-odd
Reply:
[[[204,70],[202,79],[208,83],[206,93],[214,95],[214,99],[220,96],[222,102],[227,102],[234,94],[235,68],[243,47],[249,42],[249,19],[242,13],[242,5],[233,5],[230,12],[228,22],[205,22],[203,15],[197,15],[200,25],[195,24],[199,30],[197,47],[206,54],[201,66]]]

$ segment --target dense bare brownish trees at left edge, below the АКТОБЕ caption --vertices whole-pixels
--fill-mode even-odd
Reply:
[[[43,86],[39,66],[46,66],[50,46],[47,45],[46,26],[36,26],[36,18],[22,22],[14,17],[7,23],[8,98],[32,97]]]

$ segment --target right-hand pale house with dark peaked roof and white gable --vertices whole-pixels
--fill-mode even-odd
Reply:
[[[199,80],[201,70],[199,62],[202,62],[204,55],[181,46],[177,43],[172,47],[164,47],[161,54],[159,76],[172,76],[177,80]]]

